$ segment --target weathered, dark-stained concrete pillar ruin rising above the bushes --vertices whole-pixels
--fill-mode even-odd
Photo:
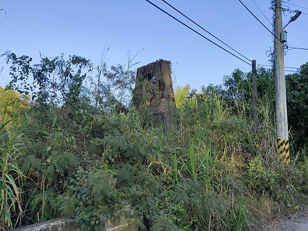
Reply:
[[[142,103],[150,107],[153,124],[164,121],[167,130],[171,127],[172,110],[176,105],[170,65],[169,61],[158,60],[138,68],[133,97],[137,107]]]

